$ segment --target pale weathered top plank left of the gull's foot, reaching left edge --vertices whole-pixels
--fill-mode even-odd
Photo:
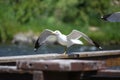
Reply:
[[[64,54],[35,54],[35,55],[9,56],[0,57],[0,63],[16,62],[18,60],[56,59],[66,57],[67,55]]]

